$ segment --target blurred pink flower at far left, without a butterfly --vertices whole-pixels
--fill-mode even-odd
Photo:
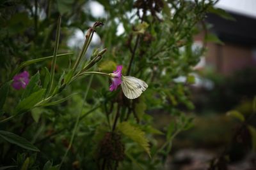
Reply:
[[[28,71],[23,71],[22,73],[16,74],[13,77],[12,87],[16,90],[20,90],[21,87],[25,89],[28,83],[29,83],[29,73]]]

